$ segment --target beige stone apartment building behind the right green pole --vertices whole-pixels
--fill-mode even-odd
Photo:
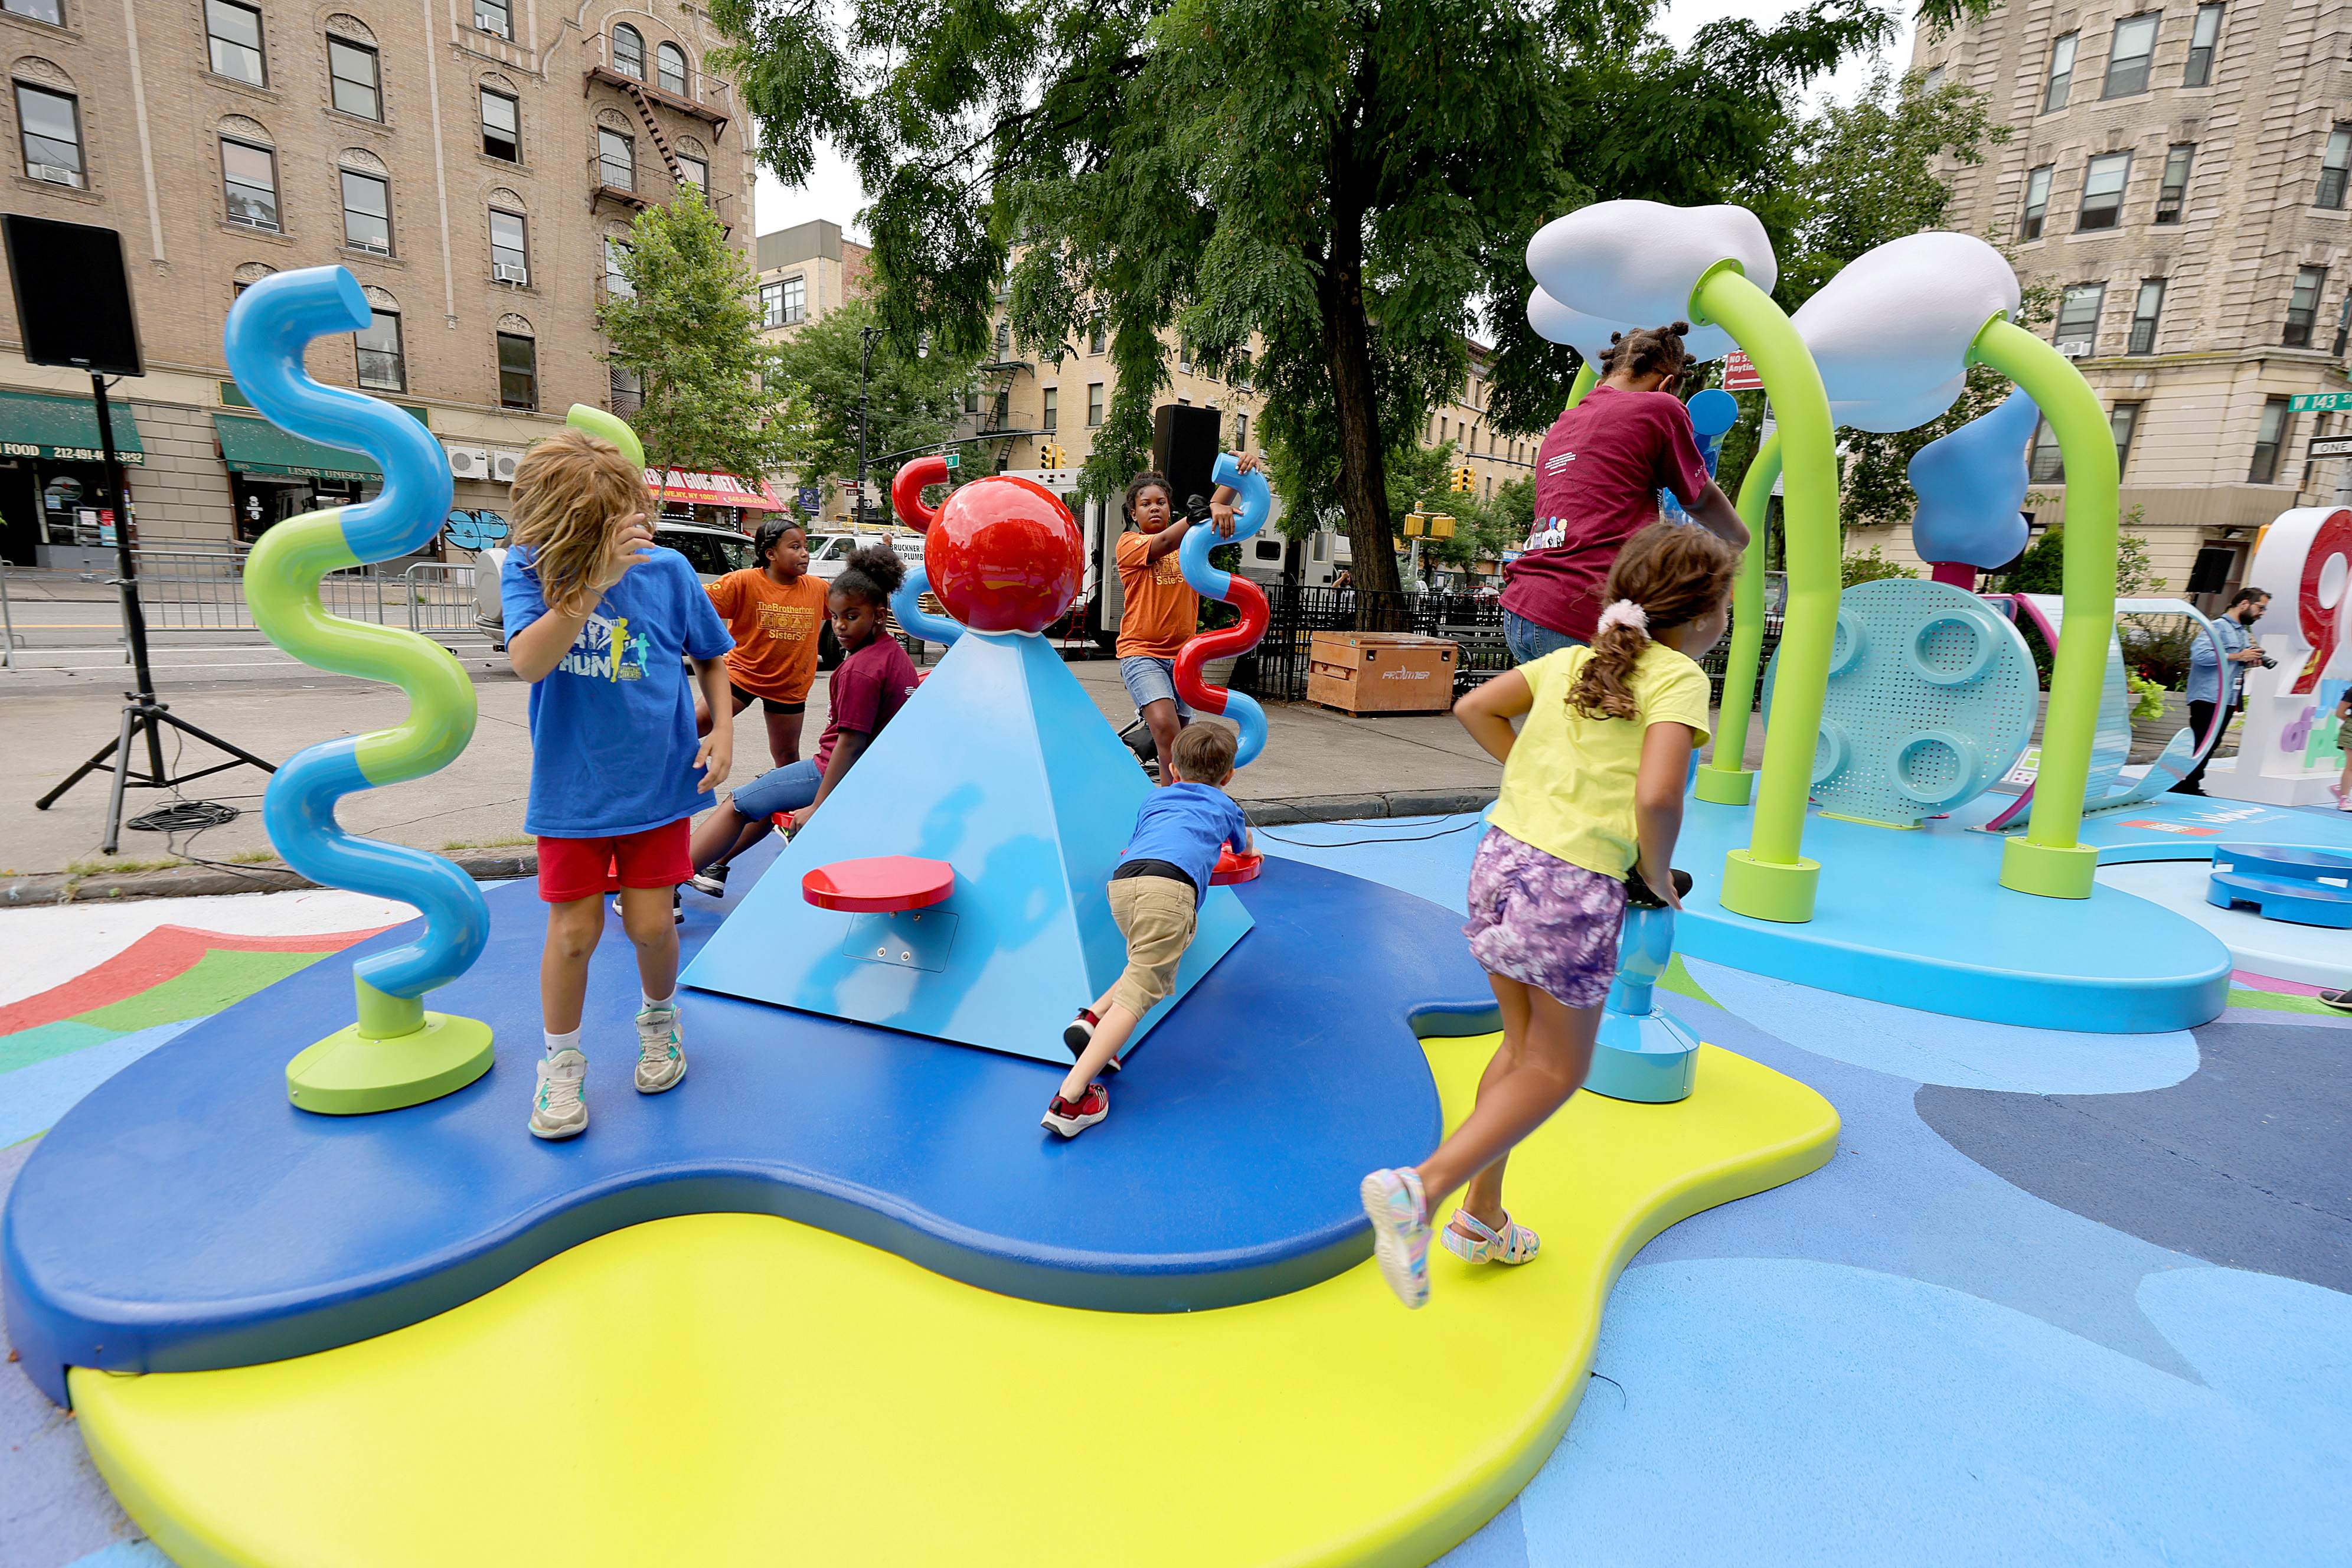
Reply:
[[[2333,496],[2338,461],[2305,458],[2343,390],[2352,259],[2352,42],[2312,0],[2161,7],[2011,0],[1912,66],[1992,101],[2013,139],[1947,167],[1947,223],[2013,244],[2027,284],[2058,289],[2044,331],[2098,390],[2166,590],[2218,607],[2256,531]],[[2338,416],[2340,418],[2340,416]],[[2044,425],[2034,489],[2065,515]],[[1877,538],[1872,538],[1877,536]],[[1910,529],[1851,548],[1912,559]]]

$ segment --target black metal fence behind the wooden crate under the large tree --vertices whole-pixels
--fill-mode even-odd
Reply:
[[[1232,668],[1232,686],[1258,701],[1298,703],[1308,693],[1308,654],[1315,632],[1418,632],[1444,637],[1461,649],[1454,691],[1468,691],[1512,665],[1503,644],[1503,602],[1472,592],[1362,592],[1355,588],[1265,588],[1265,639]],[[1755,705],[1764,689],[1764,668],[1780,646],[1780,616],[1764,618],[1764,656],[1757,661]],[[1710,696],[1724,701],[1724,661],[1731,637],[1715,644],[1698,668],[1708,672]]]

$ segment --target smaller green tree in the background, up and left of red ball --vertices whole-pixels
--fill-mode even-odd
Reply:
[[[814,409],[809,449],[797,470],[804,484],[856,477],[861,390],[868,458],[943,444],[964,416],[964,393],[978,383],[978,357],[931,346],[908,355],[884,336],[866,376],[863,334],[875,324],[873,303],[851,299],[776,346],[776,367],[807,390]]]

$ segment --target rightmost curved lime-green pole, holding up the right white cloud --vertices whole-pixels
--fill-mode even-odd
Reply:
[[[2082,371],[2023,327],[1994,317],[1976,334],[1969,357],[2025,388],[2065,456],[2065,625],[2051,661],[2034,811],[2025,837],[2002,846],[2002,886],[2044,898],[2089,898],[2098,851],[2077,837],[2114,637],[2114,433]]]

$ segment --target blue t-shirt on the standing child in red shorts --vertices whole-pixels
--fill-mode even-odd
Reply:
[[[548,602],[532,550],[506,552],[499,576],[508,642]],[[630,567],[604,590],[572,651],[532,686],[532,806],[524,832],[604,839],[666,827],[710,806],[696,788],[694,693],[684,656],[734,646],[694,567],[677,550]]]

